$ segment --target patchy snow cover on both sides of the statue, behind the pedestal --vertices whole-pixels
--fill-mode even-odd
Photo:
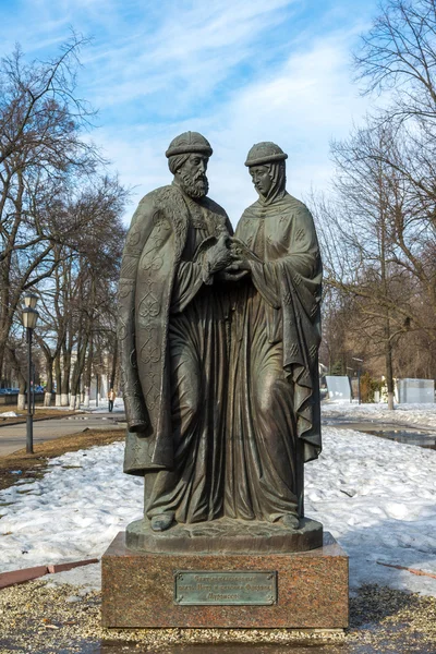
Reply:
[[[305,468],[306,514],[350,556],[352,588],[377,582],[436,596],[436,451],[324,428],[324,451]],[[44,479],[0,492],[0,571],[100,557],[141,517],[143,482],[122,473],[123,444],[53,459]],[[53,581],[98,584],[98,567]]]

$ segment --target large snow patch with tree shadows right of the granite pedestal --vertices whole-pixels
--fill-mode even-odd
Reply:
[[[436,595],[436,451],[334,427],[323,438],[305,467],[305,512],[346,549],[351,586]]]

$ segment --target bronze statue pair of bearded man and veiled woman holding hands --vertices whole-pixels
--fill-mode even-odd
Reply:
[[[245,162],[259,198],[232,238],[207,197],[211,153],[196,132],[171,142],[173,182],[141,201],[123,252],[124,470],[145,480],[145,520],[128,528],[136,544],[149,526],[174,525],[171,534],[175,523],[215,521],[229,534],[238,521],[259,521],[296,532],[303,463],[320,451],[312,216],[286,191],[287,155],[259,143]]]

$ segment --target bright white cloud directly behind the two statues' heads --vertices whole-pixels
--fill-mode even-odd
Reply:
[[[349,80],[349,34],[318,39],[304,53],[291,55],[268,78],[234,94],[232,100],[196,120],[165,124],[155,132],[143,125],[113,141],[100,136],[124,182],[137,185],[136,198],[168,183],[165,150],[185,130],[202,131],[214,147],[209,162],[210,196],[235,223],[256,195],[244,160],[253,143],[275,141],[289,154],[288,189],[302,197],[312,186],[327,189],[331,175],[329,142],[346,137],[368,100]]]

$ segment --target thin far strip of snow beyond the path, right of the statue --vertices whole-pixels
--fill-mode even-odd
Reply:
[[[358,404],[339,400],[322,402],[323,417],[346,417],[353,421],[376,420],[388,423],[408,423],[436,429],[436,404],[396,404],[389,411],[386,403]]]

